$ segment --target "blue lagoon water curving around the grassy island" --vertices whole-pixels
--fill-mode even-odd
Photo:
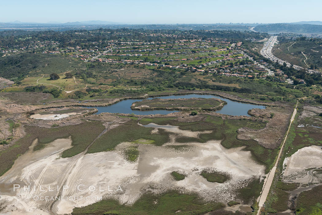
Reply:
[[[237,102],[232,101],[228,98],[222,98],[220,96],[214,96],[214,95],[201,95],[201,94],[186,94],[186,95],[173,95],[173,96],[159,96],[159,97],[153,97],[153,98],[147,98],[147,99],[154,99],[154,98],[219,98],[223,101],[226,101],[227,104],[220,110],[216,110],[215,112],[221,113],[221,114],[227,114],[232,116],[249,116],[248,110],[253,108],[260,108],[264,109],[265,106],[262,105],[254,105],[249,103],[243,103],[243,102]],[[118,103],[115,103],[113,105],[109,106],[95,106],[95,108],[98,109],[99,113],[124,113],[124,114],[137,114],[137,115],[149,115],[149,114],[169,114],[178,112],[178,110],[132,110],[131,105],[133,102],[142,101],[143,99],[126,99],[119,101]],[[92,107],[87,107],[92,108]]]

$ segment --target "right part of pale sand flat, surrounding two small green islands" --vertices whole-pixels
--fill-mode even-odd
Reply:
[[[142,154],[138,171],[140,175],[146,175],[141,182],[154,182],[166,189],[177,187],[188,192],[198,192],[207,200],[220,198],[224,201],[230,198],[234,189],[241,186],[242,180],[264,175],[264,167],[252,162],[251,153],[241,151],[242,147],[225,149],[220,141],[193,145],[196,146],[195,150],[181,154],[169,153],[165,147],[140,146]],[[228,173],[231,180],[222,184],[208,182],[200,175],[207,168]],[[173,181],[169,177],[173,171],[184,172],[188,176],[182,181]]]

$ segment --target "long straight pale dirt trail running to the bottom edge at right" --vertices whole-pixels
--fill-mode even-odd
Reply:
[[[306,97],[304,97],[304,98],[299,98],[299,99],[298,99],[298,102],[299,102],[299,100],[300,100],[300,99],[305,99],[305,98],[306,98]],[[265,179],[265,181],[264,181],[263,189],[262,189],[262,192],[261,192],[261,194],[260,194],[260,200],[259,200],[259,203],[258,203],[258,205],[259,205],[259,209],[258,209],[258,211],[257,211],[257,215],[259,215],[259,214],[260,214],[260,210],[261,210],[261,208],[263,207],[263,205],[264,205],[264,203],[265,203],[265,201],[266,201],[266,199],[267,199],[268,193],[270,192],[270,187],[271,187],[272,182],[273,182],[273,179],[274,179],[274,175],[275,175],[275,171],[276,171],[276,168],[277,168],[277,164],[279,163],[279,160],[280,160],[281,154],[282,154],[282,152],[283,152],[284,144],[285,144],[286,139],[287,139],[287,136],[288,136],[288,134],[289,134],[289,129],[291,128],[292,122],[294,121],[295,115],[296,115],[296,113],[297,113],[297,109],[296,109],[296,108],[298,107],[298,102],[296,103],[296,106],[295,106],[295,108],[294,108],[294,111],[293,111],[292,117],[291,117],[290,122],[289,122],[289,128],[288,128],[288,130],[287,130],[287,132],[286,132],[286,136],[285,136],[285,138],[284,138],[284,141],[283,141],[283,144],[282,144],[282,146],[281,146],[281,149],[279,150],[279,155],[278,155],[278,157],[277,157],[277,159],[276,159],[275,165],[274,165],[274,167],[270,170],[270,172],[268,173],[268,176],[266,177],[266,179]]]

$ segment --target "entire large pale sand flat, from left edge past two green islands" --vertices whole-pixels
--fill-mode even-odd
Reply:
[[[129,163],[122,155],[122,148],[131,144],[120,144],[117,150],[111,152],[78,154],[71,158],[59,158],[59,154],[71,146],[69,139],[56,140],[36,152],[32,151],[32,145],[0,178],[0,203],[6,206],[2,213],[8,211],[7,214],[13,214],[11,210],[14,210],[16,214],[65,214],[71,213],[74,207],[97,201],[96,197],[110,197],[120,203],[132,204],[145,191],[159,193],[167,189],[197,192],[206,200],[230,201],[234,197],[233,190],[243,186],[245,180],[264,175],[264,166],[253,162],[249,151],[242,151],[242,147],[225,149],[220,141],[192,143],[192,150],[179,152],[169,150],[166,145],[142,144],[138,147],[140,154],[135,163]],[[200,172],[209,168],[228,173],[231,180],[222,184],[207,182]],[[170,176],[172,171],[184,172],[187,177],[175,181]],[[23,189],[13,192],[15,183],[31,187],[42,185],[45,191],[36,188],[32,192]],[[54,191],[48,190],[49,185]],[[69,188],[62,191],[56,188],[57,185],[68,185]],[[82,191],[77,190],[78,185],[81,185]],[[116,191],[118,185],[122,190]],[[90,188],[93,189],[90,186],[94,186],[95,191],[90,191]],[[99,186],[104,191],[100,191]],[[70,196],[90,196],[93,199],[33,200],[34,196],[56,195],[64,199]]]

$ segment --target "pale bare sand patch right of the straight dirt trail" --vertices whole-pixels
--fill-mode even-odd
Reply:
[[[311,177],[305,170],[322,167],[321,146],[313,145],[301,148],[292,156],[285,158],[283,165],[287,165],[283,172],[285,179],[308,183]]]

